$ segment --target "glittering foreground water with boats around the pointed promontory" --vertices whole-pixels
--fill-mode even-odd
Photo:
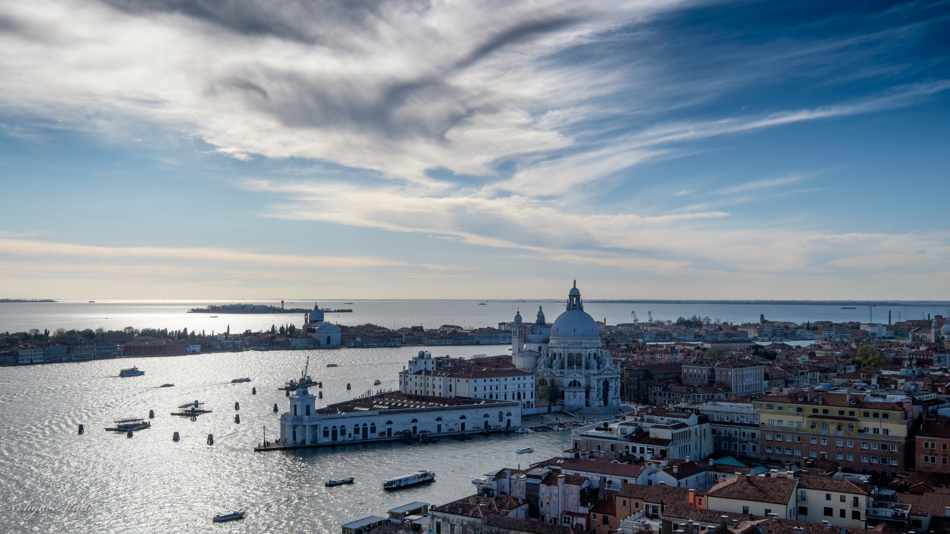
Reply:
[[[339,532],[339,524],[385,516],[397,505],[466,497],[474,493],[473,477],[568,448],[569,432],[552,431],[427,445],[252,450],[265,428],[268,439],[276,437],[274,404],[288,406],[276,388],[299,376],[308,355],[323,400],[332,403],[396,388],[396,372],[417,351],[215,353],[0,368],[0,532]],[[118,377],[133,365],[145,374]],[[244,376],[253,381],[231,384]],[[383,383],[373,387],[376,378]],[[165,382],[175,387],[159,388]],[[194,422],[169,414],[196,399],[213,412]],[[155,410],[152,428],[131,439],[104,430],[148,410]],[[179,443],[172,442],[176,430]],[[213,447],[206,445],[209,433]],[[515,453],[523,447],[535,452]],[[383,491],[386,478],[423,468],[435,471],[436,482]],[[323,486],[347,476],[355,484]],[[31,513],[30,506],[45,509]],[[212,516],[232,509],[247,510],[247,519],[212,524]]]

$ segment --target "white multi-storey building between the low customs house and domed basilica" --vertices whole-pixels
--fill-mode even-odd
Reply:
[[[493,365],[442,367],[439,358],[419,351],[409,368],[399,372],[399,391],[417,395],[519,401],[523,413],[535,409],[535,378],[531,372]]]

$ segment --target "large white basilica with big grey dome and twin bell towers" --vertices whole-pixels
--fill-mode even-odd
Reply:
[[[544,322],[539,308],[533,324],[524,324],[520,312],[515,315],[512,329],[512,362],[535,373],[539,411],[620,407],[620,372],[603,350],[597,321],[584,312],[577,280],[554,324]]]

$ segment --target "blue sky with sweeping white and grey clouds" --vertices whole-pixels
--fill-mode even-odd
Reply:
[[[950,3],[0,0],[0,297],[950,299]]]

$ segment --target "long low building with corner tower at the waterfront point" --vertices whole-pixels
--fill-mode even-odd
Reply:
[[[481,431],[522,426],[517,401],[447,398],[389,392],[316,408],[316,397],[299,389],[280,416],[280,445],[344,444],[399,439],[428,431]]]

